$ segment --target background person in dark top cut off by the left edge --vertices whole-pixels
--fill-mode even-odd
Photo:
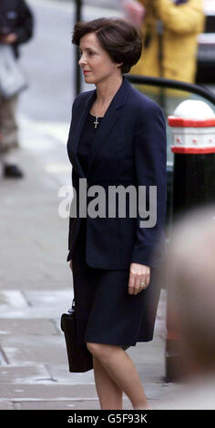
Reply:
[[[33,35],[33,15],[24,0],[1,0],[0,43],[10,45],[15,58],[19,45]],[[16,165],[15,150],[18,148],[18,127],[15,111],[18,95],[5,99],[0,91],[0,161],[5,178],[22,178],[23,172]]]

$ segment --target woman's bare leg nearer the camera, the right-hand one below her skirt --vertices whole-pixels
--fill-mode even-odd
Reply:
[[[149,409],[137,369],[120,346],[87,342],[87,348],[97,357],[118,388],[128,395],[134,409]]]

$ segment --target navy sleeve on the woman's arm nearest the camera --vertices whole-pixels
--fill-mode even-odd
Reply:
[[[146,209],[150,210],[149,187],[157,187],[157,222],[151,228],[140,228],[143,220],[137,209],[136,242],[131,262],[150,267],[159,265],[159,241],[164,236],[167,203],[167,138],[166,124],[160,107],[150,102],[139,115],[134,141],[135,169],[138,186],[146,188]],[[140,213],[141,214],[141,213]],[[146,219],[145,219],[146,220]]]

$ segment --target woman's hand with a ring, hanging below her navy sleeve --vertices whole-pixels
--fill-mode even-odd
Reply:
[[[143,282],[144,285],[141,285]],[[142,290],[146,290],[150,282],[150,268],[144,264],[131,263],[128,281],[128,293],[138,294]]]

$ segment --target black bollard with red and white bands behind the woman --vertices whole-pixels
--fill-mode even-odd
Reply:
[[[198,117],[207,116],[204,114],[205,109],[207,113],[209,112],[208,105],[202,102],[200,106],[199,102],[194,100],[185,101],[177,108],[180,115],[178,116],[175,112],[176,117],[169,117],[169,126],[173,128],[173,146],[171,149],[175,155],[172,201],[173,221],[189,209],[214,202],[215,117],[213,117],[213,111],[211,110],[211,118],[199,119]],[[184,111],[182,105],[184,105]],[[202,111],[199,111],[200,108],[202,108]],[[191,118],[188,118],[190,117],[188,116],[188,109]],[[180,363],[180,338],[170,315],[170,292],[171,284],[169,283],[166,381],[176,382],[185,374],[186,368],[182,369]]]

